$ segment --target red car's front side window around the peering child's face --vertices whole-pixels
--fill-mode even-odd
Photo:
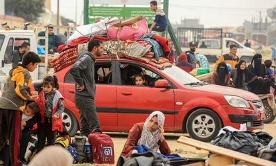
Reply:
[[[144,86],[154,86],[155,81],[161,77],[158,73],[151,71],[144,66],[121,63],[121,84],[135,86],[135,75],[142,75],[145,79]]]

